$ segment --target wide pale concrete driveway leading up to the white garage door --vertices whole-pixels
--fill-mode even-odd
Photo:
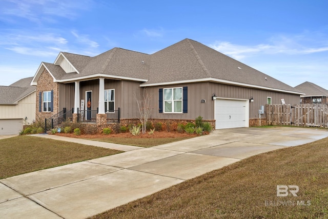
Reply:
[[[328,130],[308,128],[215,130],[190,140],[13,176],[0,181],[0,218],[85,218],[244,158],[327,136]]]

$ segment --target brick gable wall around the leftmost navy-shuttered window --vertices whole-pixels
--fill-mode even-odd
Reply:
[[[45,91],[53,90],[53,112],[43,112],[43,106],[41,106],[41,112],[39,112],[39,93],[41,95]],[[52,76],[49,72],[45,69],[40,77],[37,79],[37,86],[36,86],[36,120],[44,121],[45,118],[49,118],[54,114],[58,113],[58,93],[59,93],[59,86],[58,83],[53,82]],[[41,97],[41,104],[43,99]]]

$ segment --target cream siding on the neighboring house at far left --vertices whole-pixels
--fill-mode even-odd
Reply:
[[[0,119],[24,118],[24,124],[35,120],[35,92],[18,101],[17,105],[0,105]],[[25,117],[27,120],[25,121]]]

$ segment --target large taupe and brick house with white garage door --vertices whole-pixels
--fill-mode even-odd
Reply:
[[[86,121],[104,125],[120,108],[126,124],[139,116],[134,94],[147,88],[154,121],[186,122],[200,115],[216,129],[258,125],[261,106],[281,99],[298,104],[303,94],[191,39],[154,54],[121,48],[95,57],[60,52],[53,64],[41,63],[31,85],[42,118],[74,108],[75,121],[82,106],[90,111],[79,111]]]

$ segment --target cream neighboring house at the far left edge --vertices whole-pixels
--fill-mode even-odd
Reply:
[[[23,125],[35,120],[36,87],[30,85],[32,78],[0,86],[0,135],[18,134]]]

